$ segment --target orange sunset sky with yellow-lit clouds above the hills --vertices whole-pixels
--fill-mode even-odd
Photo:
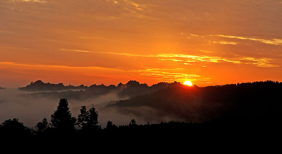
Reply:
[[[282,0],[0,0],[0,87],[282,81]]]

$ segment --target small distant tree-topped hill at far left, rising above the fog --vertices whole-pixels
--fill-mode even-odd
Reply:
[[[37,80],[35,82],[31,82],[26,87],[19,87],[19,90],[26,90],[26,91],[60,91],[60,90],[70,90],[70,89],[86,89],[88,86],[80,85],[80,86],[73,86],[67,85],[65,86],[63,83],[59,84],[52,84],[52,83],[44,83],[41,80]]]

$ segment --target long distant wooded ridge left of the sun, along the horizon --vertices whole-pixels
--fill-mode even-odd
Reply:
[[[35,84],[36,83],[36,84]],[[48,86],[50,87],[48,88]],[[51,86],[52,85],[52,86]],[[152,86],[148,86],[146,83],[140,84],[138,81],[130,80],[126,84],[119,83],[117,86],[115,85],[91,85],[89,87],[81,85],[74,88],[73,86],[64,86],[62,83],[60,84],[49,84],[49,83],[43,83],[42,81],[36,81],[30,85],[27,85],[26,87],[19,88],[19,90],[28,90],[28,91],[53,91],[53,92],[40,92],[40,93],[32,93],[32,94],[22,94],[22,96],[38,96],[38,97],[52,97],[52,98],[68,98],[69,100],[86,100],[89,98],[95,98],[97,96],[101,95],[107,95],[110,93],[115,93],[119,97],[129,97],[133,98],[138,95],[145,95],[152,93],[154,91],[167,88],[167,87],[175,87],[181,85],[179,82],[160,82],[158,84],[154,84]],[[60,88],[54,88],[54,87],[60,87]],[[84,88],[83,88],[84,87]],[[63,90],[63,88],[66,89],[85,89],[80,91],[61,91],[57,92],[58,90]]]

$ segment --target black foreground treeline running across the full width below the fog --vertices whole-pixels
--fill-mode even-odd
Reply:
[[[128,125],[116,126],[108,121],[105,128],[101,128],[98,122],[98,112],[94,107],[89,110],[81,106],[78,118],[72,117],[67,99],[60,99],[57,110],[51,115],[50,122],[44,118],[35,127],[24,126],[18,119],[8,119],[0,125],[2,137],[38,136],[47,140],[54,140],[54,137],[68,136],[83,139],[81,137],[97,137],[106,141],[145,141],[144,139],[168,140],[171,138],[201,139],[202,137],[227,137],[232,139],[238,136],[255,136],[262,138],[263,135],[272,135],[280,131],[280,122],[270,121],[245,121],[236,117],[214,118],[210,121],[200,122],[179,122],[169,121],[145,125],[138,125],[135,119],[131,119]],[[260,136],[257,136],[259,133]],[[118,138],[112,138],[118,137]],[[185,138],[184,138],[185,137]],[[230,138],[231,137],[231,138]],[[28,138],[27,138],[28,139]],[[90,138],[91,139],[91,138]],[[65,140],[65,139],[64,139]]]

